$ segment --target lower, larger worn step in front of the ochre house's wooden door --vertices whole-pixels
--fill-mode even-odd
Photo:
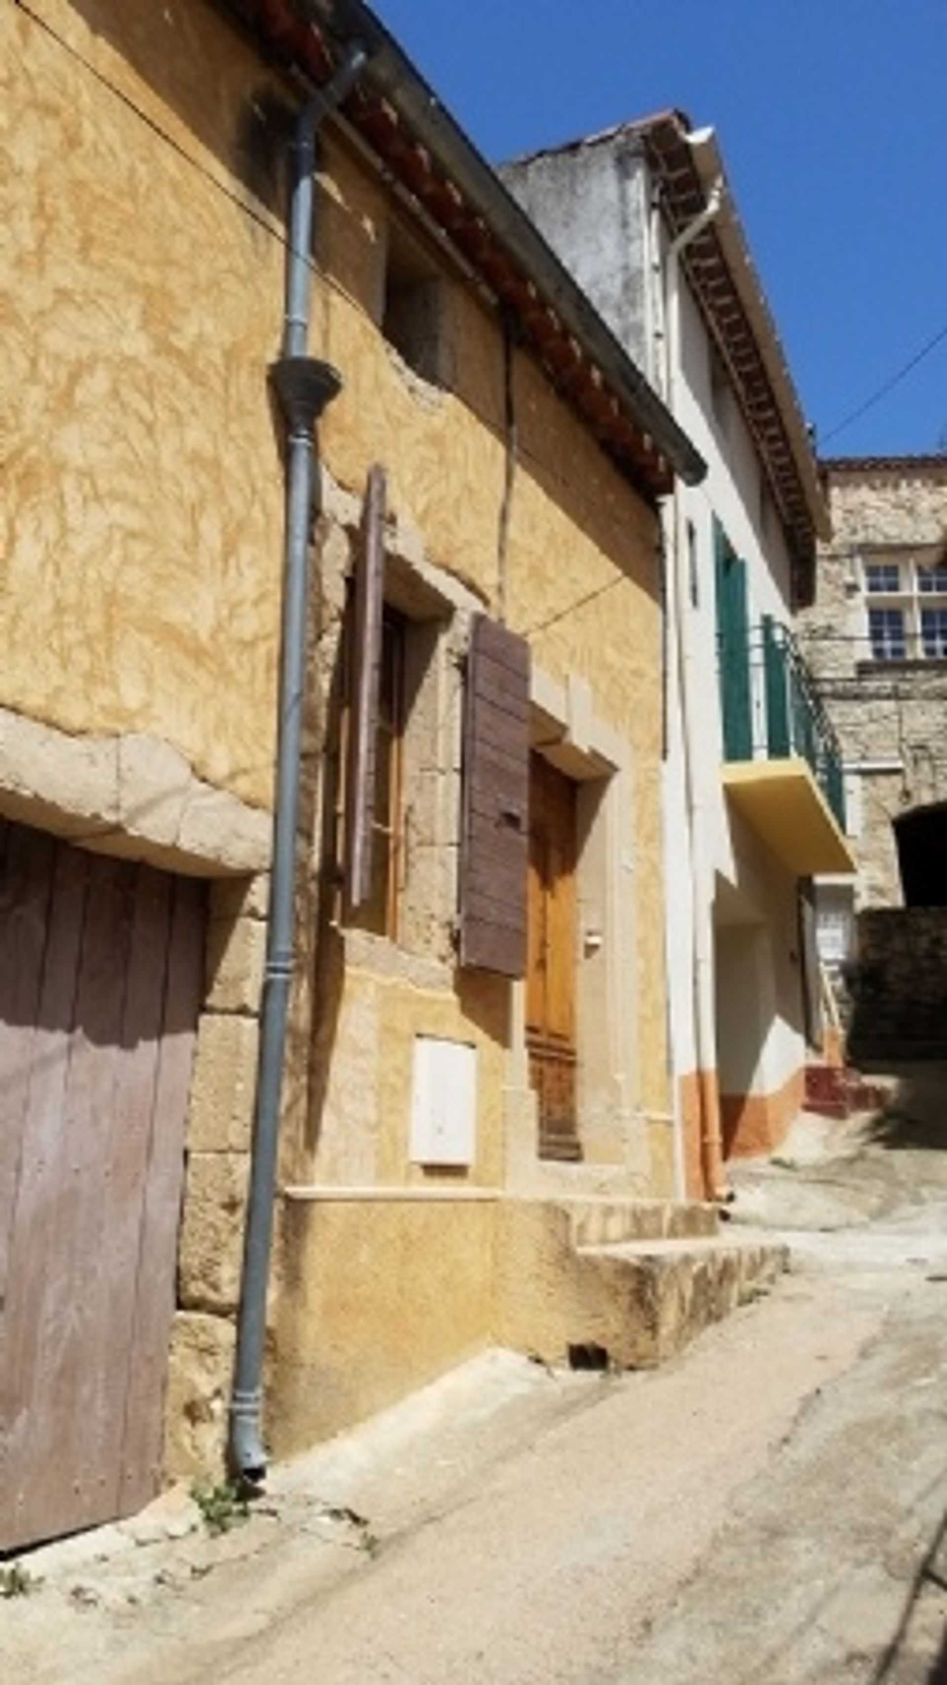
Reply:
[[[637,1240],[576,1250],[583,1326],[573,1346],[602,1348],[618,1368],[652,1368],[709,1323],[763,1294],[789,1269],[768,1237]]]

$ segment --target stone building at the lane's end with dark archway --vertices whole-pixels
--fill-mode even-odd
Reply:
[[[819,944],[836,977],[861,974],[853,1053],[885,1068],[945,1046],[947,458],[839,457],[821,475],[832,536],[800,640],[843,748],[858,876],[819,880]]]

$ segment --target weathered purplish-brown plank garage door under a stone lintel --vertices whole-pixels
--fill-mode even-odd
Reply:
[[[157,1488],[202,885],[0,821],[0,1550]]]

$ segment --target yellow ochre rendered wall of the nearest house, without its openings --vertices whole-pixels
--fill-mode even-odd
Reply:
[[[219,1454],[239,1297],[283,556],[268,366],[295,96],[221,8],[194,0],[2,0],[0,54],[0,812],[211,880],[167,1383],[167,1473],[182,1474]],[[406,366],[381,330],[393,224],[409,229],[409,207],[329,123],[310,352],[344,384],[320,426],[312,548],[276,1452],[489,1341],[527,1341],[522,1233],[548,1222],[558,1235],[558,1198],[676,1191],[657,509],[526,350],[511,354],[507,391],[500,320],[448,254],[448,377]],[[406,736],[396,939],[339,922],[325,842],[345,576],[374,462],[393,600],[423,600],[423,637],[433,627],[416,745]],[[463,971],[453,949],[462,661],[479,612],[529,640],[534,741],[554,741],[580,784],[575,1166],[536,1156],[522,984]],[[411,1163],[416,1036],[475,1048],[467,1166]],[[543,1282],[529,1291],[554,1355],[554,1270]]]

